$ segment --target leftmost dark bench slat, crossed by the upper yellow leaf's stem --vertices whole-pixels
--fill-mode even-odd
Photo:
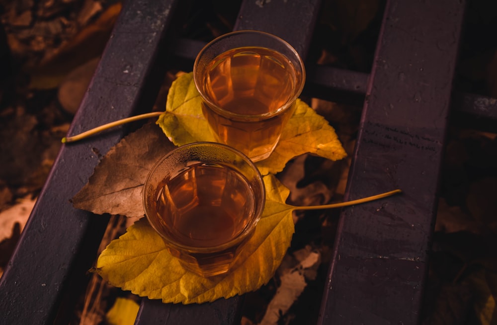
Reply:
[[[72,123],[75,134],[150,110],[155,96],[145,96],[157,71],[158,44],[164,38],[177,0],[126,1]],[[118,128],[86,141],[63,145],[0,280],[2,324],[65,323],[59,304],[79,292],[85,271],[96,257],[108,217],[74,209],[69,202],[87,182],[100,154],[117,143]],[[84,254],[80,254],[84,252]],[[71,290],[70,290],[71,289]],[[71,312],[74,306],[64,305]],[[64,311],[63,311],[64,312]]]

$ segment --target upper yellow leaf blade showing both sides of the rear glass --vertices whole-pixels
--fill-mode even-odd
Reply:
[[[175,145],[195,141],[215,141],[201,109],[200,94],[193,74],[179,76],[167,95],[166,112],[157,124]],[[309,105],[297,100],[297,109],[283,129],[280,141],[269,158],[256,163],[262,175],[276,174],[286,163],[301,154],[314,153],[339,160],[346,156],[335,130]]]

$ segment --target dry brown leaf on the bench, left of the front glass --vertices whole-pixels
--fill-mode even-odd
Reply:
[[[73,197],[73,205],[97,214],[143,216],[142,188],[147,174],[173,148],[160,128],[146,124],[109,150]]]

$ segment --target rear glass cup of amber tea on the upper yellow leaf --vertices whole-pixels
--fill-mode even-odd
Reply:
[[[295,111],[305,69],[284,40],[246,30],[207,44],[195,60],[193,79],[216,140],[259,161],[274,150]]]

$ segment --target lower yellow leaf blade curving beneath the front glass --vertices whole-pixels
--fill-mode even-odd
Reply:
[[[263,215],[230,272],[204,278],[185,270],[145,218],[107,246],[96,272],[116,287],[165,303],[211,302],[258,289],[273,276],[294,233],[294,207],[285,203],[289,190],[273,175],[264,184]]]

